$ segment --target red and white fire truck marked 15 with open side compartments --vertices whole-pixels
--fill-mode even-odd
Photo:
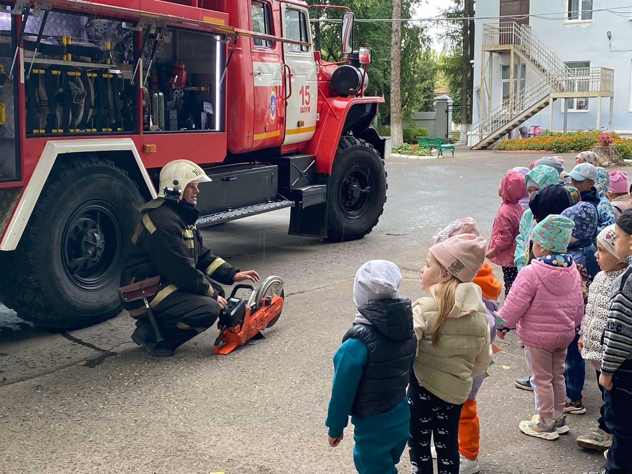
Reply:
[[[312,10],[313,12],[313,10]],[[198,227],[291,207],[289,233],[368,234],[390,142],[370,49],[323,61],[301,0],[0,0],[0,300],[50,329],[116,315],[138,207],[191,159]]]

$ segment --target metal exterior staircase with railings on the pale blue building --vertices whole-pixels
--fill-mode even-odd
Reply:
[[[545,46],[528,25],[513,21],[483,25],[483,49],[512,49],[538,71],[540,77],[516,91],[474,123],[470,135],[472,149],[486,148],[562,97],[611,97],[614,71],[605,68],[568,68]],[[470,142],[471,142],[470,138]]]

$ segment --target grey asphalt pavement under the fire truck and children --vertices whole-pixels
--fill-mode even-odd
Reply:
[[[572,155],[564,155],[567,169]],[[155,359],[133,344],[126,313],[87,329],[49,334],[0,307],[0,473],[353,473],[352,430],[339,447],[324,419],[332,356],[353,322],[353,276],[372,258],[404,274],[401,295],[422,296],[419,270],[437,228],[474,217],[489,237],[507,169],[537,155],[457,149],[454,159],[390,159],[384,216],[348,243],[288,236],[288,210],[204,229],[206,245],[232,264],[285,281],[285,308],[266,339],[228,356],[214,329]],[[502,273],[496,269],[502,281]],[[483,473],[583,473],[601,453],[574,439],[596,424],[600,396],[586,377],[585,415],[571,434],[542,441],[518,431],[533,394],[513,332],[478,395]],[[404,453],[401,472],[409,472]]]

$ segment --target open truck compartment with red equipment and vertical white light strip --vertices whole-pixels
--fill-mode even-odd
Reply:
[[[221,35],[171,27],[150,30],[143,56],[149,68],[143,73],[144,131],[223,131],[224,48]]]

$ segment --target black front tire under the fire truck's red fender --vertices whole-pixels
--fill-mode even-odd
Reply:
[[[327,239],[363,238],[377,225],[386,202],[386,170],[364,140],[342,137],[327,186]]]

